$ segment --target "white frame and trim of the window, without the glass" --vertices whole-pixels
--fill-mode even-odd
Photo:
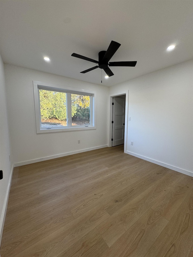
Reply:
[[[71,104],[67,107],[67,126],[58,127],[41,127],[41,113],[40,113],[40,93],[39,89],[46,89],[50,91],[71,93],[77,95],[91,96],[90,97],[90,124],[89,125],[73,125],[71,119]],[[74,131],[74,130],[91,130],[96,129],[96,93],[90,90],[79,89],[68,86],[59,86],[50,83],[44,83],[40,81],[33,81],[33,96],[35,106],[35,119],[36,119],[36,133],[50,133],[50,132],[61,132],[61,131]],[[67,94],[67,103],[71,102],[71,95]],[[70,106],[70,108],[69,108]]]

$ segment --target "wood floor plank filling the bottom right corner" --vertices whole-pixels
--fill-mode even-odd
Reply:
[[[184,199],[145,257],[191,256],[192,246],[193,192]]]

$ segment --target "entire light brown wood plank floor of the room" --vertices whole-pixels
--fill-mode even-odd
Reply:
[[[193,257],[193,178],[103,148],[14,169],[1,257]]]

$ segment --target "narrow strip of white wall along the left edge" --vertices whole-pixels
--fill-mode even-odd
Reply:
[[[12,165],[9,161],[9,155],[11,155],[11,150],[9,140],[7,100],[5,93],[5,75],[3,61],[0,55],[0,170],[3,171],[3,179],[0,180],[0,244],[12,174]]]

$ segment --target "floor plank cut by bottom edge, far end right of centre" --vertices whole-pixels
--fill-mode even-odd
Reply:
[[[143,256],[167,224],[168,221],[165,218],[149,208],[103,255],[108,257]]]

